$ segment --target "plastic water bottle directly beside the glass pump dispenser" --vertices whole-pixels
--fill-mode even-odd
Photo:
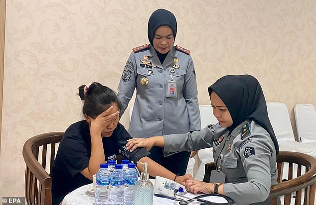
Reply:
[[[135,169],[134,163],[129,163],[125,174],[125,188],[124,188],[124,204],[133,205],[134,188],[138,181],[138,172]]]

